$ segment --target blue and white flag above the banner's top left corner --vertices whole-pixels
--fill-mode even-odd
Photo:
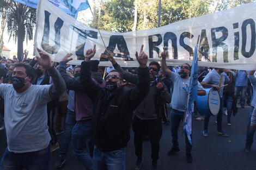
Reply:
[[[14,0],[28,7],[37,8],[39,0]],[[56,7],[62,9],[66,14],[77,18],[78,11],[86,10],[90,7],[88,0],[47,0]]]

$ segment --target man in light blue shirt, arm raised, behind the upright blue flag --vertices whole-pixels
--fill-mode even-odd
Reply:
[[[186,108],[186,99],[187,99],[187,87],[190,84],[190,65],[183,64],[180,67],[180,71],[178,74],[169,70],[166,64],[166,57],[168,52],[163,48],[163,52],[161,54],[162,57],[162,70],[164,73],[169,75],[170,79],[173,81],[174,89],[172,96],[172,111],[170,112],[170,124],[171,124],[171,133],[172,133],[172,143],[173,147],[169,150],[167,155],[173,155],[176,152],[179,152],[179,143],[178,143],[178,130],[179,124],[183,121],[185,108]],[[198,93],[199,96],[205,96],[206,92],[202,85],[198,82]],[[191,135],[192,138],[192,135]],[[186,142],[186,158],[188,163],[192,163],[192,145],[188,141],[187,135],[185,135]]]

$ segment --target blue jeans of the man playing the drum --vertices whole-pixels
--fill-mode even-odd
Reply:
[[[221,97],[221,108],[217,115],[217,131],[222,131],[223,97]],[[208,130],[211,114],[204,116],[204,130]]]

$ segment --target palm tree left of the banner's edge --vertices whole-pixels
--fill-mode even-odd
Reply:
[[[33,39],[36,9],[13,1],[9,10],[7,20],[8,33],[17,42],[17,58],[21,61],[25,37],[27,41]]]

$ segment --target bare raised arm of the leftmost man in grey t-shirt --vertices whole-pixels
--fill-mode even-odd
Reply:
[[[49,94],[52,99],[58,98],[66,90],[65,82],[57,69],[52,66],[50,56],[46,52],[41,51],[39,48],[36,49],[40,55],[40,57],[36,56],[38,63],[42,67],[46,68],[53,81],[53,84],[50,87]]]

